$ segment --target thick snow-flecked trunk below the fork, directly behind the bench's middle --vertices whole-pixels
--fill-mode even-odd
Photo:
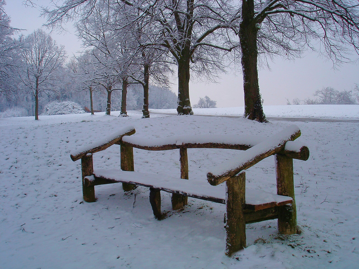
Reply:
[[[190,102],[190,57],[178,60],[178,115],[193,115]]]

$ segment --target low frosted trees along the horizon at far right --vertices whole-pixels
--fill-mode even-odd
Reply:
[[[357,105],[359,104],[359,85],[356,84],[354,90],[351,91],[337,91],[332,87],[323,87],[321,90],[316,90],[313,96],[317,96],[317,98],[310,99],[308,97],[304,100],[294,98],[292,103],[287,99],[287,105]]]

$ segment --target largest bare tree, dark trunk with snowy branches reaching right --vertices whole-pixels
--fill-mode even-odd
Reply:
[[[266,121],[258,84],[258,53],[291,58],[309,47],[334,62],[346,61],[348,44],[359,50],[358,6],[357,0],[242,1],[238,34],[244,116]]]

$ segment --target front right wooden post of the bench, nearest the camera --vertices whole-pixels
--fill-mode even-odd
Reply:
[[[232,256],[246,247],[246,223],[244,221],[244,203],[246,202],[246,173],[232,176],[226,181],[225,254]]]

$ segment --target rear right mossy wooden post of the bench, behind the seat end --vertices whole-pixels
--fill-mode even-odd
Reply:
[[[278,232],[283,235],[297,233],[297,208],[294,197],[293,159],[283,154],[275,155],[277,194],[293,198],[292,204],[278,210]]]

